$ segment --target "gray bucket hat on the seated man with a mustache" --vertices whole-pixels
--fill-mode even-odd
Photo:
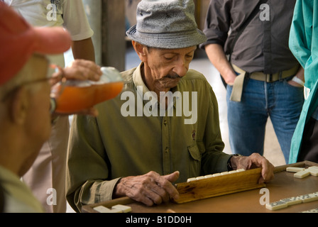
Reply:
[[[126,34],[150,48],[188,48],[207,40],[197,28],[193,0],[142,0],[137,24]]]

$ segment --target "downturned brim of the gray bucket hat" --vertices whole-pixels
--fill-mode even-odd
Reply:
[[[199,29],[176,33],[140,33],[135,25],[126,32],[126,35],[131,40],[150,48],[163,49],[189,48],[207,41],[207,37]]]

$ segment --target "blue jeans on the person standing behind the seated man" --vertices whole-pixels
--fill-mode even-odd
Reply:
[[[241,102],[230,101],[231,92],[232,87],[227,86],[232,153],[263,155],[265,125],[269,116],[288,163],[290,141],[304,103],[303,88],[287,84],[287,79],[267,83],[246,78]]]

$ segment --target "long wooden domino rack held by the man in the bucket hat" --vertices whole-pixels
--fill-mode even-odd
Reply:
[[[260,177],[261,168],[256,168],[253,170],[176,184],[175,187],[180,194],[180,198],[175,200],[175,203],[183,204],[199,199],[207,199],[214,196],[265,187],[265,184],[258,184],[258,179],[260,179]]]

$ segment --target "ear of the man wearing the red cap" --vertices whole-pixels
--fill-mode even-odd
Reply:
[[[9,107],[11,121],[20,125],[25,123],[28,116],[29,103],[29,95],[26,87],[19,87],[18,90],[14,92],[11,106]]]

